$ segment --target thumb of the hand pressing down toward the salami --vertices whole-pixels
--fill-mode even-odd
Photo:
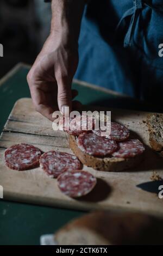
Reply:
[[[57,81],[58,84],[58,107],[62,114],[69,115],[67,107],[69,107],[69,113],[72,110],[72,94],[71,84],[72,80],[68,78],[60,78]],[[66,108],[65,108],[66,107]]]

